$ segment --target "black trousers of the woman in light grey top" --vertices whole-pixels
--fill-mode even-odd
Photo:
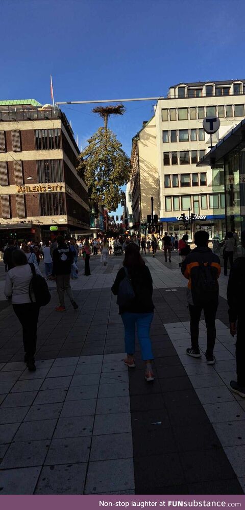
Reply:
[[[34,356],[37,344],[39,306],[36,303],[23,303],[13,305],[13,309],[22,326],[24,352]]]

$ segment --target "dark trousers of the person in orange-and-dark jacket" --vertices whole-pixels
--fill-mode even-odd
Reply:
[[[204,317],[207,328],[207,350],[206,355],[213,355],[213,348],[216,338],[216,327],[215,317],[217,312],[217,303],[211,303],[205,306],[193,306],[189,305],[190,311],[190,338],[192,349],[199,349],[199,322],[201,318],[202,310],[204,311]]]

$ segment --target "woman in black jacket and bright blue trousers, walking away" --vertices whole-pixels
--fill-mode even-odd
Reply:
[[[135,326],[137,326],[141,356],[145,362],[145,379],[154,381],[152,369],[152,344],[150,339],[150,327],[153,319],[154,305],[152,302],[152,277],[151,273],[140,255],[139,249],[134,243],[125,248],[124,267],[119,269],[115,282],[111,288],[114,295],[120,293],[119,287],[125,277],[129,277],[134,291],[134,297],[128,299],[119,306],[119,314],[125,329],[125,351],[127,358],[124,363],[129,368],[135,367]]]

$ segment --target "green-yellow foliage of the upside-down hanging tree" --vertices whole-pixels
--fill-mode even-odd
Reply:
[[[130,159],[121,147],[116,135],[101,127],[79,156],[78,173],[89,188],[90,198],[109,211],[116,211],[122,198],[120,188],[130,177]]]

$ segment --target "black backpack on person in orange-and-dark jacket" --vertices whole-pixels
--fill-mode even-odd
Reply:
[[[195,306],[203,306],[218,301],[216,269],[210,262],[199,262],[191,278],[191,294]]]

